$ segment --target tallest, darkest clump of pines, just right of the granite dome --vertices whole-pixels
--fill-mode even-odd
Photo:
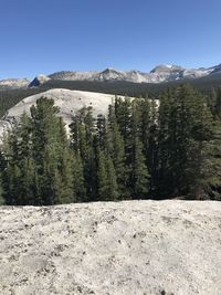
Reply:
[[[203,198],[212,118],[206,99],[189,86],[169,89],[159,107],[159,193]]]

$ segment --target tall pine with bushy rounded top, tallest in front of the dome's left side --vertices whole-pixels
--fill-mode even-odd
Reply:
[[[61,193],[57,113],[54,102],[44,97],[36,101],[36,106],[31,107],[33,159],[39,188],[36,199],[42,204],[55,204]]]

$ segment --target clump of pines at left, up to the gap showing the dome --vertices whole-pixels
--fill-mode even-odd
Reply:
[[[8,135],[2,154],[9,204],[73,202],[73,166],[64,124],[51,99],[40,98]]]

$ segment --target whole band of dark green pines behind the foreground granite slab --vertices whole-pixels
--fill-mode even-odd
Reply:
[[[221,89],[191,86],[159,101],[116,97],[107,116],[80,109],[66,133],[42,97],[6,136],[0,152],[7,204],[134,199],[221,200]]]

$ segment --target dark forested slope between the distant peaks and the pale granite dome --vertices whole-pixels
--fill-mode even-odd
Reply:
[[[165,82],[165,83],[131,83],[124,81],[112,82],[92,82],[92,81],[60,81],[50,80],[43,85],[35,88],[20,89],[0,89],[0,117],[17,103],[25,97],[34,94],[43,93],[53,88],[65,88],[73,91],[86,91],[95,93],[105,93],[114,95],[128,95],[134,97],[158,97],[158,95],[168,87],[178,86],[181,82]],[[182,83],[191,84],[198,91],[209,95],[212,88],[221,86],[221,74],[213,74],[206,77],[194,80],[183,80]]]

